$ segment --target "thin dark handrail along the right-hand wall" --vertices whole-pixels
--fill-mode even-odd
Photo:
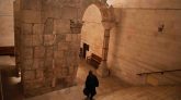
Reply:
[[[158,72],[149,72],[149,73],[139,73],[137,75],[143,76],[143,75],[149,75],[149,74],[165,74],[165,73],[170,73],[170,72],[180,72],[181,70],[171,70],[171,71],[158,71]]]

